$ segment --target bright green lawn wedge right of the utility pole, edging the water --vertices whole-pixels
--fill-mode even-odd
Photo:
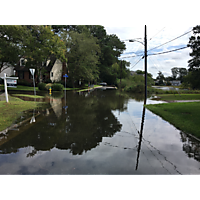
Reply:
[[[183,132],[200,138],[200,102],[154,104],[145,107]]]

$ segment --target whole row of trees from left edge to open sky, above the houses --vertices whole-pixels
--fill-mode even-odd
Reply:
[[[80,80],[116,84],[129,71],[130,63],[118,59],[125,49],[101,25],[0,25],[0,73],[25,58],[25,66],[39,77],[54,55],[67,63],[68,85]]]

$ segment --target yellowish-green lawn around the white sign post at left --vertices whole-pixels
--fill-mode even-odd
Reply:
[[[9,103],[0,101],[0,131],[11,126],[13,122],[20,116],[20,113],[37,108],[41,103],[33,101],[23,101],[16,97],[9,96]]]

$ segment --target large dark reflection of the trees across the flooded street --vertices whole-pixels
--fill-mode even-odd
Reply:
[[[94,91],[87,97],[68,92],[67,114],[62,109],[58,118],[54,109],[50,109],[48,115],[44,110],[36,123],[20,127],[21,133],[2,144],[0,151],[5,154],[32,146],[34,150],[28,156],[34,156],[40,150],[48,151],[56,146],[81,155],[95,148],[102,137],[112,137],[121,130],[122,125],[112,110],[123,111],[126,103],[125,97],[116,96],[113,91]]]

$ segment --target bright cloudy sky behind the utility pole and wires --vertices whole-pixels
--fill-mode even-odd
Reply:
[[[141,38],[138,40],[144,42],[144,25],[103,26],[105,27],[107,34],[116,34],[120,40]],[[195,25],[147,25],[148,50],[192,30],[194,26]],[[187,46],[191,35],[193,35],[193,32],[190,32],[166,45],[149,51],[149,54],[185,47]],[[144,46],[138,42],[129,43],[128,41],[125,41],[125,43],[127,49],[121,57],[134,56],[135,54],[142,54],[144,52]],[[191,49],[186,48],[167,54],[148,56],[147,70],[153,74],[153,78],[156,78],[158,71],[163,72],[165,76],[171,76],[171,68],[173,67],[184,67],[188,69],[188,60],[191,59],[189,56],[190,52]],[[141,57],[124,58],[124,60],[131,62],[131,71],[136,71],[138,69],[144,70],[144,59],[133,67]]]

